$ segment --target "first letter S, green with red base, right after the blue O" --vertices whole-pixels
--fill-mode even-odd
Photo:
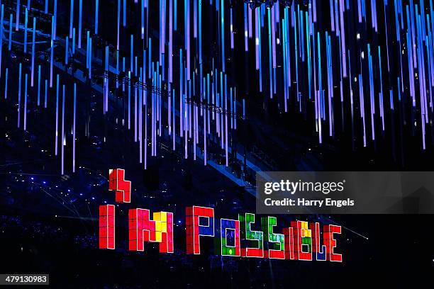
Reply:
[[[241,248],[241,256],[264,258],[264,233],[251,229],[251,224],[255,222],[255,214],[239,214],[238,220],[240,220],[240,234],[243,237],[243,242],[246,243],[246,246],[249,242],[255,244],[254,247]]]

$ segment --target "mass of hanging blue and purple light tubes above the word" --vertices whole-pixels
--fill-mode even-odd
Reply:
[[[160,143],[222,172],[280,169],[263,147],[239,153],[233,136],[262,113],[255,103],[283,127],[299,113],[319,143],[391,147],[404,164],[407,142],[421,152],[434,139],[425,2],[2,1],[2,102],[8,123],[49,127],[60,174],[76,171],[78,140],[107,142],[112,126],[133,137],[144,169]]]

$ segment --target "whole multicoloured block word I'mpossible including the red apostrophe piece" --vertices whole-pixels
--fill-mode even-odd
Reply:
[[[123,169],[109,170],[109,190],[115,191],[116,203],[130,203],[131,182],[125,180]],[[99,206],[99,249],[116,249],[115,205]],[[135,208],[128,210],[128,249],[144,251],[145,242],[159,244],[160,253],[174,252],[173,213],[153,212]],[[342,262],[342,254],[335,253],[334,234],[341,233],[338,225],[291,221],[282,234],[274,232],[276,217],[261,217],[260,231],[252,229],[255,214],[243,213],[238,220],[220,219],[216,230],[213,208],[191,206],[186,209],[187,254],[201,254],[201,238],[218,237],[221,256],[256,257],[304,261]],[[218,231],[220,231],[218,235]]]

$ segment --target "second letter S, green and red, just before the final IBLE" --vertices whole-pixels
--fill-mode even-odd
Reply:
[[[265,250],[266,257],[269,259],[285,259],[284,235],[274,234],[273,232],[273,228],[277,225],[277,218],[262,217],[261,225],[265,240],[269,242],[269,249]]]

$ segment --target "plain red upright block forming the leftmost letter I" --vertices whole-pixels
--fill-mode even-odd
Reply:
[[[115,249],[114,205],[99,206],[99,249]]]

